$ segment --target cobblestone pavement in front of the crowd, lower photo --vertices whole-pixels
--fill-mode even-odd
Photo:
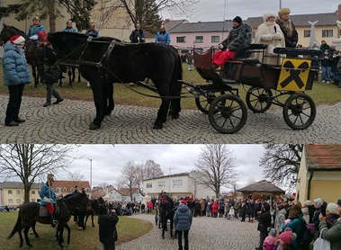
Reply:
[[[147,219],[154,228],[143,237],[116,246],[116,250],[170,250],[177,249],[177,239],[172,239],[166,232],[161,238],[161,229],[154,223],[154,215],[133,215],[136,219]],[[169,227],[168,227],[169,228]],[[189,232],[189,248],[191,250],[253,250],[258,246],[259,232],[257,223],[240,222],[239,219],[197,217],[193,218]]]

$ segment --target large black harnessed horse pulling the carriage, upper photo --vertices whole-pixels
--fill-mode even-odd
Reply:
[[[90,38],[81,33],[49,33],[49,42],[61,62],[79,65],[82,76],[90,82],[96,116],[90,129],[99,129],[104,115],[113,108],[113,83],[134,83],[150,78],[161,96],[161,105],[153,129],[162,129],[167,112],[179,117],[183,69],[175,48],[156,43],[123,44],[118,40]],[[109,101],[109,103],[107,102]]]

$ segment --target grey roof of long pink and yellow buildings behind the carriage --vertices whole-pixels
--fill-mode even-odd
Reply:
[[[318,26],[335,26],[337,25],[338,13],[309,13],[309,14],[291,14],[290,19],[296,27],[310,27],[310,22],[316,22]],[[232,27],[231,20],[219,22],[180,22],[174,27],[167,27],[167,31],[172,33],[193,33],[193,32],[214,32],[214,31],[229,31]],[[172,21],[175,22],[175,21]],[[256,29],[262,24],[263,17],[249,17],[244,20],[252,28]]]

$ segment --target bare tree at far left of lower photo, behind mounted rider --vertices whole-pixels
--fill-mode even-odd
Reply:
[[[30,201],[31,185],[48,173],[58,174],[75,159],[73,145],[6,144],[0,146],[0,176],[20,179],[24,202]],[[45,176],[44,178],[45,179]]]

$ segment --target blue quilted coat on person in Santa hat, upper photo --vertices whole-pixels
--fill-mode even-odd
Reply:
[[[22,85],[31,83],[31,74],[22,48],[7,43],[4,46],[4,85]]]

